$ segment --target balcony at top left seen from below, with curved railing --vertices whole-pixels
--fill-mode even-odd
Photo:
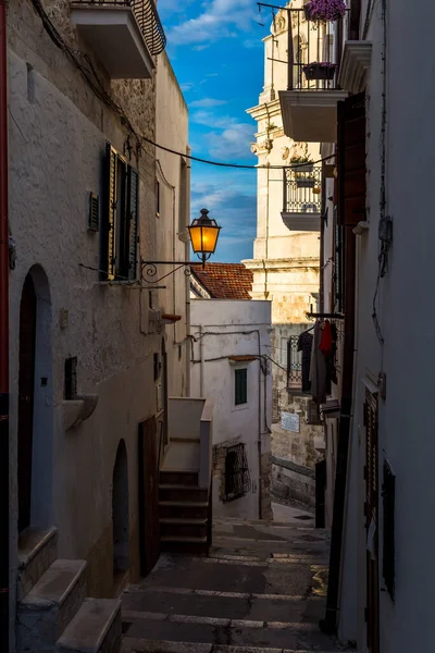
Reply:
[[[153,0],[73,0],[71,17],[111,79],[147,79],[166,38]]]

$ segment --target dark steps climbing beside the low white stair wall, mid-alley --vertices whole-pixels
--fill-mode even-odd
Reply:
[[[198,486],[198,472],[163,469],[159,484],[162,551],[207,554],[209,492]]]

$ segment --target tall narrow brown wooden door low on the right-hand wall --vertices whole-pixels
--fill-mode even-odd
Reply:
[[[365,423],[365,530],[366,551],[366,634],[370,653],[380,651],[380,568],[378,568],[378,445],[377,397],[366,391]]]

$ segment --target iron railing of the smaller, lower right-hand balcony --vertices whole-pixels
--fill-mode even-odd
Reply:
[[[285,168],[284,213],[313,213],[322,210],[322,168],[308,164],[299,168]]]

